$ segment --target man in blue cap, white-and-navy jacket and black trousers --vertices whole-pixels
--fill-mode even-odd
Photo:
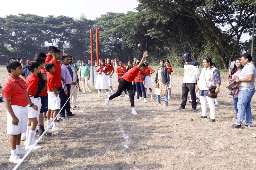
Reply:
[[[188,90],[192,99],[192,112],[196,112],[196,78],[199,77],[200,72],[198,68],[198,64],[191,59],[190,53],[185,53],[183,55],[185,60],[184,63],[184,77],[182,83],[182,102],[180,107],[177,110],[185,109],[188,99]]]

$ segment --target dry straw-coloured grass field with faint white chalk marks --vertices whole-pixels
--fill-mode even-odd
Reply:
[[[6,68],[0,67],[0,71],[3,85]],[[155,74],[152,79],[154,77]],[[154,105],[155,95],[151,100],[147,92],[147,103],[143,100],[135,103],[138,115],[131,114],[129,98],[115,98],[106,108],[104,92],[98,98],[90,80],[92,93],[78,93],[80,109],[72,110],[76,116],[59,123],[65,131],[43,137],[39,143],[43,149],[34,150],[19,168],[256,169],[256,138],[252,137],[252,132],[256,131],[255,95],[251,103],[253,127],[229,129],[228,125],[235,122],[235,110],[232,97],[225,88],[228,85],[226,73],[221,73],[220,105],[216,107],[214,123],[209,122],[209,118],[197,119],[201,116],[200,104],[195,113],[189,102],[185,110],[176,110],[181,102],[183,73],[174,69],[172,78],[169,107]],[[114,90],[117,85],[117,75],[114,74]],[[8,160],[11,153],[4,103],[0,103],[0,112],[0,169],[12,169],[15,164]],[[209,107],[207,112],[210,117]]]

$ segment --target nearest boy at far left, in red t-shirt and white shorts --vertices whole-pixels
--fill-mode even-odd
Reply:
[[[11,148],[9,161],[19,163],[21,159],[17,154],[27,153],[27,151],[20,148],[21,133],[26,133],[28,122],[27,85],[19,77],[22,72],[19,62],[13,60],[7,61],[6,68],[10,75],[3,85],[2,95],[7,110],[7,134],[9,135]]]

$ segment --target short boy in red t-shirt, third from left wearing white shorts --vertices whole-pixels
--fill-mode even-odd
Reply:
[[[57,92],[57,83],[56,83],[56,77],[54,75],[56,69],[54,64],[48,63],[45,64],[45,70],[48,72],[47,77],[47,91],[48,91],[48,110],[53,111],[53,118],[55,118],[60,109],[60,95]],[[47,124],[50,125],[51,121],[48,120],[49,117],[47,117]],[[57,119],[53,121],[52,131],[57,130],[64,130],[57,126]]]

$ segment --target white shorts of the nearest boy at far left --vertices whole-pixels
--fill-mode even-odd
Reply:
[[[26,133],[28,123],[28,109],[27,107],[12,105],[14,115],[19,119],[18,125],[12,124],[12,117],[7,113],[7,134],[8,135],[19,135],[20,133]]]

